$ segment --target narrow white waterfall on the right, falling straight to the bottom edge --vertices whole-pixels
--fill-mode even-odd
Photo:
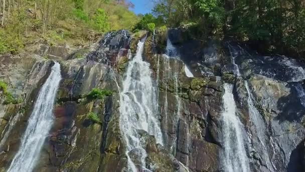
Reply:
[[[233,85],[224,84],[224,110],[222,112],[222,137],[224,140],[223,162],[225,171],[249,171],[243,141],[243,127],[236,116]]]

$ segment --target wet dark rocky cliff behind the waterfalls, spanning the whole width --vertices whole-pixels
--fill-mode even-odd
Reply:
[[[251,171],[304,171],[304,65],[280,55],[260,56],[232,40],[202,42],[190,34],[187,29],[156,34],[122,30],[82,49],[40,45],[31,53],[2,55],[0,78],[22,101],[5,103],[0,90],[0,171],[8,169],[19,149],[53,60],[61,64],[62,80],[55,123],[35,171],[130,171],[130,162],[138,171],[230,171],[224,156],[226,133],[233,141],[237,138],[234,144],[243,140]],[[151,114],[158,119],[163,140],[136,130],[145,156],[128,146],[120,109],[123,80],[140,40],[142,60],[154,81],[150,87],[156,88],[156,114]],[[194,77],[187,76],[186,67]],[[138,80],[138,72],[144,71],[138,68],[131,77]],[[224,83],[233,85],[239,134],[225,128]],[[94,88],[112,94],[88,99]],[[91,120],[90,112],[100,122]],[[141,115],[134,114],[134,123]]]

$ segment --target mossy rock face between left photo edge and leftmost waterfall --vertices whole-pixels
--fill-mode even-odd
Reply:
[[[6,99],[2,95],[0,105],[1,141],[0,141],[0,170],[4,171],[8,162],[13,158],[11,152],[19,148],[20,138],[26,128],[33,101],[35,101],[41,85],[46,80],[53,65],[51,61],[30,54],[17,56],[1,56],[2,79],[9,85],[8,91],[20,101],[14,104],[4,104]]]

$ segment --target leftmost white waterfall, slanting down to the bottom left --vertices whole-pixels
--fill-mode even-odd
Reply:
[[[50,76],[39,91],[19,151],[8,169],[9,172],[30,172],[34,169],[45,138],[54,122],[53,107],[60,80],[60,64],[55,62]]]

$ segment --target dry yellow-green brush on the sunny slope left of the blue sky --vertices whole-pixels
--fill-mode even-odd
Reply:
[[[131,29],[138,21],[129,10],[133,5],[123,0],[4,1],[0,54],[16,54],[35,43],[84,45],[101,33]]]

